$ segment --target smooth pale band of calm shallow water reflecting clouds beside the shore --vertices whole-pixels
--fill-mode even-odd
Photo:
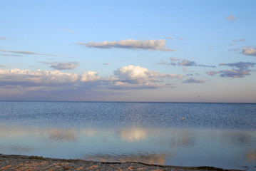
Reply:
[[[0,125],[1,153],[17,155],[232,168],[256,165],[255,144],[248,130]]]

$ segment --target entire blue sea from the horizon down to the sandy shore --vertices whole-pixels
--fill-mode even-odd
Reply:
[[[0,153],[256,170],[256,104],[0,101]]]

